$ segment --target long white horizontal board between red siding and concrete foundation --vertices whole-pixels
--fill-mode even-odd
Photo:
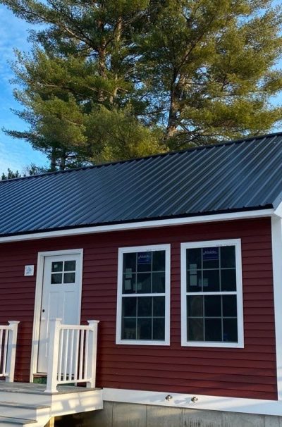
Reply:
[[[168,399],[166,399],[166,397]],[[170,391],[150,392],[143,390],[104,388],[103,400],[107,402],[149,404],[161,407],[243,412],[245,414],[280,416],[282,414],[282,402],[278,402],[276,400],[190,395]]]

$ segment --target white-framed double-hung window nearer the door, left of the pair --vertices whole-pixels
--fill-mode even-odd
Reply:
[[[170,245],[118,251],[116,343],[169,345]]]

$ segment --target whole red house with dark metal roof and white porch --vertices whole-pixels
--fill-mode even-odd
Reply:
[[[280,425],[282,134],[0,202],[0,426]]]

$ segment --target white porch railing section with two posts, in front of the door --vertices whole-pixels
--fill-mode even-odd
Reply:
[[[63,325],[61,319],[51,319],[46,392],[56,392],[59,384],[95,387],[98,323]]]

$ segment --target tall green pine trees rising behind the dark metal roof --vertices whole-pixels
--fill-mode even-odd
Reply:
[[[51,170],[268,132],[282,86],[271,0],[0,0],[35,29],[7,130]],[[40,24],[37,29],[37,24]]]

